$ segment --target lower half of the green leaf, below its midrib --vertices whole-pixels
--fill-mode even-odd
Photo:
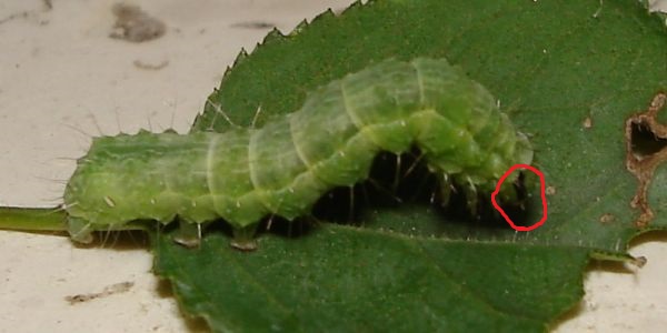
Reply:
[[[542,331],[584,294],[576,248],[465,242],[341,225],[245,253],[210,234],[156,241],[156,269],[215,331]]]

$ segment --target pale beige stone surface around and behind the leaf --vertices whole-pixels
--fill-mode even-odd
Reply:
[[[113,1],[52,1],[50,10],[48,2],[0,2],[0,205],[60,203],[62,181],[90,135],[185,132],[240,48],[251,50],[269,30],[258,23],[287,32],[351,1],[132,1],[167,27],[163,37],[143,43],[108,38]],[[78,249],[62,236],[0,231],[0,332],[200,330],[160,287],[146,249],[131,240]],[[631,252],[648,264],[635,273],[590,271],[581,312],[559,332],[666,326],[667,243]],[[121,282],[135,284],[83,303],[66,300]]]

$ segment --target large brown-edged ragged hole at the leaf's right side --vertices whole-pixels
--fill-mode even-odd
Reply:
[[[667,160],[667,125],[656,119],[666,102],[667,94],[659,92],[653,98],[646,111],[626,120],[626,168],[639,181],[637,192],[630,202],[633,208],[641,210],[641,214],[635,221],[637,228],[647,226],[654,219],[654,212],[648,204],[648,185],[656,167]]]

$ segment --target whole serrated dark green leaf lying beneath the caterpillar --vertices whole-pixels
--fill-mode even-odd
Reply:
[[[191,251],[160,234],[156,270],[215,331],[542,331],[581,296],[591,252],[620,259],[634,235],[667,226],[664,168],[650,189],[657,218],[634,224],[624,138],[627,117],[667,89],[666,32],[629,0],[370,1],[272,32],[239,56],[192,131],[225,131],[217,110],[248,125],[261,108],[261,124],[386,58],[446,57],[531,134],[554,192],[548,220],[516,233],[429,205],[371,205],[357,220],[365,228],[262,235],[255,253],[229,250],[215,232]],[[527,220],[539,220],[539,205]]]

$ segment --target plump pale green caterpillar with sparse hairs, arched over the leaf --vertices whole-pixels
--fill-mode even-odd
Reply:
[[[489,193],[509,167],[532,160],[526,137],[461,69],[386,60],[261,129],[96,138],[66,189],[68,230],[88,242],[135,220],[199,226],[221,218],[253,233],[267,215],[293,220],[327,191],[365,180],[379,152],[412,147],[441,186],[454,180]]]

